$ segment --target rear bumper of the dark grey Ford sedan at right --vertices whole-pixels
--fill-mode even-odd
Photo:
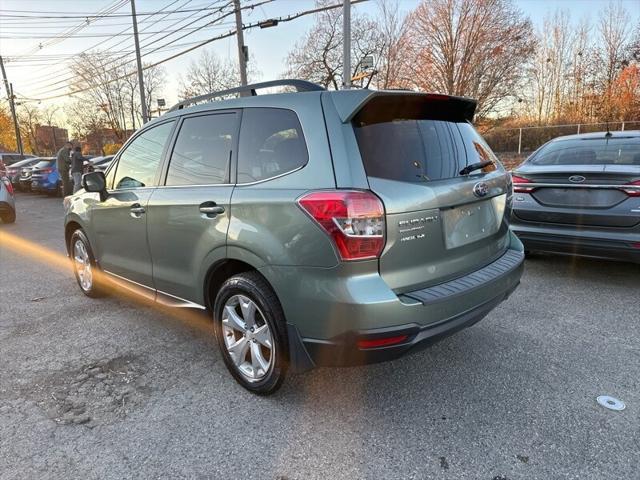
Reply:
[[[511,228],[527,250],[640,263],[640,232],[633,231],[637,229],[608,232],[515,222]]]

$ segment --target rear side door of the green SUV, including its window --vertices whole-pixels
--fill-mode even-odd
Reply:
[[[148,207],[149,248],[159,292],[197,303],[203,261],[225,257],[239,118],[238,111],[227,110],[182,119],[164,185]]]

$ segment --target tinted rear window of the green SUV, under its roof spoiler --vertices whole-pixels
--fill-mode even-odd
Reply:
[[[392,99],[392,101],[390,101]],[[473,126],[430,112],[424,97],[372,99],[353,120],[368,176],[425,182],[457,177],[467,165],[498,159]]]

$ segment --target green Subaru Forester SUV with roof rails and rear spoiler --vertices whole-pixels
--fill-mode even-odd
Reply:
[[[282,85],[294,91],[256,95]],[[229,371],[256,393],[287,371],[427,346],[522,275],[510,176],[471,126],[475,106],[300,80],[184,101],[65,199],[78,284],[210,312]]]

